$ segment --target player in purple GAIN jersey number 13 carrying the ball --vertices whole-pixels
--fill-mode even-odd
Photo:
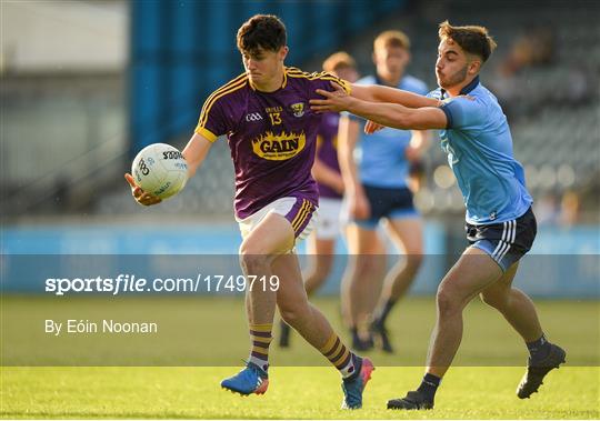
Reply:
[[[248,288],[246,295],[250,355],[246,368],[221,387],[247,395],[269,384],[269,344],[276,305],[283,320],[318,349],[342,375],[342,408],[362,405],[373,365],[351,352],[323,314],[307,299],[296,242],[312,229],[319,191],[311,177],[321,114],[310,110],[314,91],[331,91],[329,73],[304,73],[283,66],[286,27],[274,16],[257,14],[238,31],[246,72],[216,90],[183,150],[196,173],[212,143],[227,136],[236,171],[236,219],[242,233],[240,263],[247,277],[277,275],[278,291]],[[143,192],[127,174],[142,204],[160,199]],[[257,282],[258,283],[258,282]]]

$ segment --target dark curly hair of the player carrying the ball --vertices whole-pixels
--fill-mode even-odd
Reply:
[[[259,50],[279,51],[286,46],[283,22],[273,14],[254,14],[238,30],[238,50],[256,56]]]

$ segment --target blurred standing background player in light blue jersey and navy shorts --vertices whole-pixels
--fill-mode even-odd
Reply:
[[[372,58],[376,73],[357,84],[381,84],[427,94],[424,82],[404,73],[410,61],[406,33],[380,33],[373,42]],[[348,186],[346,237],[351,254],[343,279],[344,295],[349,295],[343,301],[349,302],[344,313],[350,318],[356,350],[369,349],[374,339],[383,351],[392,352],[386,320],[409,289],[422,260],[422,222],[412,203],[408,178],[410,162],[417,161],[428,144],[428,132],[386,128],[364,136],[363,126],[364,120],[356,116],[342,117],[340,122],[340,164]],[[386,244],[378,232],[380,221],[404,254],[388,273]]]

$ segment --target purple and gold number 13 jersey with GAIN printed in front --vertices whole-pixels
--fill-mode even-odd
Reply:
[[[274,92],[261,92],[246,73],[216,90],[204,102],[198,134],[210,141],[227,134],[236,170],[236,215],[247,218],[284,197],[319,203],[311,168],[321,114],[310,110],[317,89],[333,90],[330,73],[286,68]]]

